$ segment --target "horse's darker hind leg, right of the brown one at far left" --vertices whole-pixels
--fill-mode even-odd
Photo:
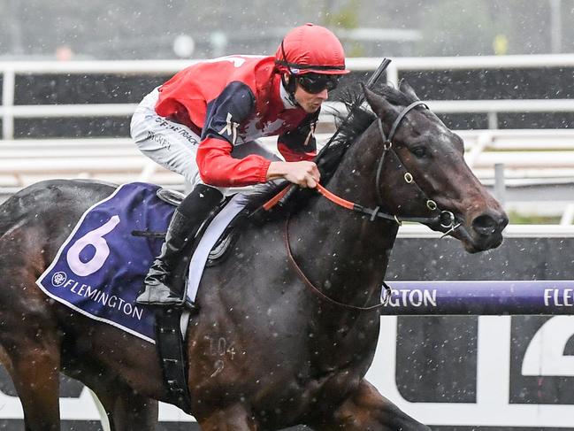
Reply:
[[[108,414],[113,431],[153,431],[157,425],[157,401],[134,392],[118,381],[90,382]]]

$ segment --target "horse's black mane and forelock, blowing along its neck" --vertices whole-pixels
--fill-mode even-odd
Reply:
[[[397,106],[407,106],[415,101],[415,99],[398,89],[389,85],[382,85],[376,91],[379,96],[383,96],[386,100]],[[333,177],[333,173],[339,167],[341,159],[344,157],[348,148],[356,142],[356,139],[363,135],[364,131],[371,126],[372,122],[377,119],[374,112],[370,107],[364,103],[364,94],[358,87],[343,90],[341,92],[341,102],[345,104],[347,110],[345,112],[334,112],[335,124],[339,129],[339,134],[329,144],[319,152],[318,169],[321,173],[321,183],[326,185]],[[348,112],[352,114],[347,121]],[[272,212],[256,211],[265,202],[270,200],[273,196],[277,195],[281,189],[287,186],[285,181],[270,182],[260,187],[260,190],[247,197],[247,212],[252,214],[251,219],[256,223],[262,221],[262,217],[253,217],[253,214],[263,216],[263,219],[277,219],[283,218],[287,213],[294,213],[302,209],[303,206],[309,203],[313,196],[317,196],[314,190],[299,189],[295,195],[291,196],[288,202],[283,207],[276,206]]]

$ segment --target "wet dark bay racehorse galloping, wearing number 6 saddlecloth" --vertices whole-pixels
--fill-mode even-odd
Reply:
[[[464,163],[462,140],[425,106],[411,106],[417,96],[408,85],[381,91],[365,90],[374,114],[357,113],[333,144],[335,154],[353,142],[325,168],[327,188],[364,207],[422,217],[471,252],[500,245],[508,219]],[[0,358],[29,430],[59,429],[60,372],[96,392],[117,430],[153,429],[156,400],[166,399],[153,344],[73,312],[34,284],[81,214],[112,191],[95,181],[44,181],[0,206]],[[364,380],[398,225],[310,193],[288,218],[279,212],[245,227],[233,256],[204,273],[202,309],[188,326],[192,404],[184,409],[209,431],[428,430]]]

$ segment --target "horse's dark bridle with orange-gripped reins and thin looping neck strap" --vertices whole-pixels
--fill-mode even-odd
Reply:
[[[438,214],[435,216],[432,216],[432,217],[398,217],[394,214],[380,211],[380,208],[384,206],[384,200],[383,200],[383,196],[381,195],[381,191],[380,191],[381,187],[380,186],[381,186],[382,169],[383,169],[383,165],[385,163],[386,155],[389,153],[389,151],[393,151],[396,158],[401,160],[401,158],[399,157],[397,152],[394,151],[394,149],[393,149],[394,135],[395,135],[398,127],[401,125],[402,119],[404,119],[404,117],[410,111],[417,108],[418,106],[424,106],[426,109],[428,109],[428,106],[420,100],[417,100],[416,102],[413,102],[412,104],[409,104],[407,107],[405,107],[402,110],[402,112],[398,115],[398,117],[396,119],[394,119],[393,125],[391,126],[391,129],[389,131],[388,137],[385,135],[385,131],[383,130],[382,120],[380,118],[377,119],[379,134],[382,138],[382,145],[383,145],[383,150],[381,152],[381,155],[379,157],[379,162],[377,164],[377,173],[375,175],[375,188],[377,190],[377,199],[378,199],[378,206],[377,207],[375,207],[373,209],[365,208],[362,205],[359,205],[359,204],[350,202],[348,200],[342,199],[340,196],[334,195],[332,192],[325,189],[320,184],[318,184],[317,190],[321,195],[325,196],[327,199],[332,201],[334,204],[338,204],[344,208],[348,208],[349,210],[353,210],[355,212],[360,212],[360,213],[364,213],[364,214],[369,215],[371,221],[374,221],[375,219],[380,218],[380,219],[394,220],[399,225],[401,225],[403,221],[413,221],[413,222],[424,223],[424,224],[432,224],[432,223],[438,222],[438,223],[440,223],[440,227],[444,227],[445,229],[448,229],[448,231],[444,235],[442,235],[442,237],[445,237],[448,234],[450,234],[451,232],[454,232],[456,228],[460,227],[461,223],[458,223],[455,225],[455,214],[453,212],[450,212],[447,210],[440,210],[439,206],[436,204],[436,202],[434,202],[432,199],[430,199],[428,196],[426,196],[425,192],[422,189],[420,189],[420,187],[417,185],[417,182],[414,180],[412,174],[409,172],[406,172],[403,175],[404,181],[417,187],[421,196],[425,196],[426,207],[431,211],[438,212]],[[279,200],[281,199],[281,197],[285,196],[285,194],[287,193],[287,189],[289,189],[289,188],[283,189],[281,193],[279,193],[277,196],[273,197],[269,202],[264,204],[264,209],[269,210],[275,204],[277,204],[279,202]],[[379,304],[371,305],[369,307],[359,307],[356,305],[350,305],[350,304],[344,304],[344,303],[338,302],[338,301],[334,300],[333,298],[326,296],[320,289],[318,289],[315,285],[313,285],[313,283],[302,272],[301,267],[297,265],[295,258],[293,256],[293,253],[291,251],[291,245],[289,243],[289,219],[290,219],[290,217],[287,217],[286,224],[285,224],[285,233],[284,233],[285,243],[286,243],[286,247],[287,247],[287,257],[289,258],[289,262],[291,263],[291,266],[293,266],[293,268],[295,269],[295,272],[299,275],[299,277],[305,283],[305,285],[310,287],[311,291],[314,294],[316,294],[317,296],[321,297],[322,299],[324,299],[325,301],[327,301],[331,304],[340,306],[340,307],[345,308],[347,310],[356,311],[356,312],[368,312],[368,311],[376,310],[380,307],[385,306],[388,303],[388,301],[391,297],[392,289],[386,284],[385,281],[383,281],[383,287],[385,288],[386,293],[385,293],[385,296],[383,297],[383,300]]]

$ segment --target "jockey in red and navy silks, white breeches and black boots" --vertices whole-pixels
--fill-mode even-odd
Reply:
[[[337,37],[307,24],[291,30],[274,57],[201,61],[145,96],[131,123],[134,141],[194,189],[173,214],[139,304],[185,303],[183,288],[168,282],[180,253],[224,195],[281,178],[302,188],[317,186],[313,132],[321,104],[348,72]],[[279,136],[286,161],[255,141],[271,135]]]

